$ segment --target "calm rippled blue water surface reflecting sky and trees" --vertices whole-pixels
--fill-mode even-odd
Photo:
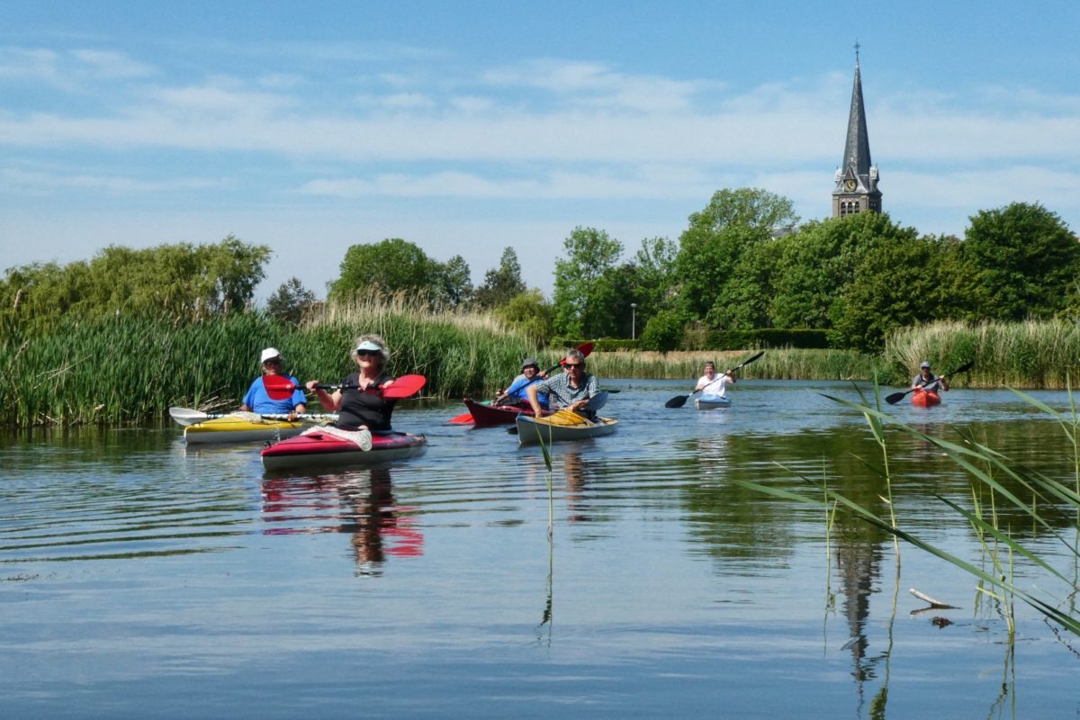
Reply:
[[[3,717],[1080,714],[1077,639],[1021,606],[1010,646],[951,566],[905,545],[897,567],[858,522],[826,551],[821,511],[732,483],[824,474],[880,508],[863,418],[820,395],[850,384],[741,382],[712,412],[663,407],[686,382],[607,384],[621,429],[556,446],[550,545],[539,449],[445,424],[459,406],[399,410],[421,458],[311,476],[265,475],[253,446],[188,450],[175,426],[0,439]],[[1071,472],[1057,426],[1007,392],[890,412]],[[934,498],[970,503],[964,479],[890,443],[901,524],[978,562]],[[919,613],[910,587],[960,607]]]

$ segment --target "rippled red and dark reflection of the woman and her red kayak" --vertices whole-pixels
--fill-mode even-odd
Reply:
[[[267,477],[261,484],[265,534],[340,532],[352,535],[356,572],[379,575],[388,557],[423,554],[415,508],[400,507],[390,467],[309,477]]]

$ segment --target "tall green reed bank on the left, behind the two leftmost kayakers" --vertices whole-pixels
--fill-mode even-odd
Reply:
[[[424,395],[460,397],[504,384],[532,348],[489,315],[434,315],[404,302],[327,310],[297,328],[260,314],[200,323],[112,316],[62,322],[50,335],[0,339],[0,425],[124,423],[170,406],[239,406],[273,345],[301,381],[337,382],[362,332],[379,332],[394,375],[428,377]]]

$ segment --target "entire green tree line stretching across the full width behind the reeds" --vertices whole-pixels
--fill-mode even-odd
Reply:
[[[575,228],[549,301],[523,282],[513,247],[474,287],[460,255],[436,260],[400,237],[357,243],[327,284],[327,302],[377,293],[491,311],[537,344],[636,336],[646,349],[671,350],[689,329],[772,328],[826,331],[832,347],[864,352],[934,321],[1044,320],[1080,309],[1080,243],[1038,203],[981,210],[961,240],[921,235],[887,214],[801,222],[787,198],[725,189],[676,241],[645,239],[629,257],[625,249],[602,229]],[[0,329],[41,331],[60,317],[121,312],[185,321],[244,311],[269,258],[267,246],[230,235],[11,268],[0,281]],[[299,324],[316,304],[293,277],[266,311]]]

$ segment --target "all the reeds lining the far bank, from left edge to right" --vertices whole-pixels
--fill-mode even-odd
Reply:
[[[0,425],[124,423],[161,418],[173,405],[235,408],[259,372],[258,353],[282,350],[286,370],[301,380],[337,382],[354,367],[357,335],[382,335],[394,375],[428,377],[423,394],[485,396],[517,373],[521,358],[554,365],[562,349],[537,351],[490,314],[432,313],[405,301],[325,309],[300,327],[261,314],[200,323],[112,316],[64,321],[49,335],[0,337]],[[692,380],[712,359],[723,369],[752,350],[735,352],[596,352],[600,378]],[[1080,327],[1075,323],[967,326],[936,324],[891,337],[880,357],[838,350],[769,350],[743,378],[870,380],[904,385],[922,359],[939,371],[969,361],[961,386],[1065,388],[1080,377]]]

